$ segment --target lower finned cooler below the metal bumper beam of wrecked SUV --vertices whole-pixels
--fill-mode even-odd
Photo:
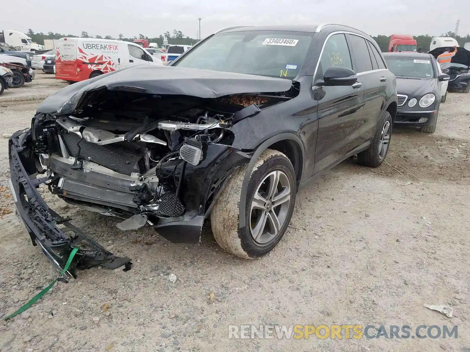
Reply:
[[[137,207],[133,202],[134,194],[113,191],[107,188],[94,186],[81,181],[76,181],[65,177],[62,184],[62,191],[65,197],[75,196],[90,200],[101,200],[103,202],[118,204],[126,207]]]

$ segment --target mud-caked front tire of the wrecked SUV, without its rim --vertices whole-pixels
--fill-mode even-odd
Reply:
[[[246,226],[239,230],[240,197],[246,168],[247,166],[237,169],[229,178],[224,190],[212,208],[211,226],[215,240],[225,251],[240,258],[255,259],[271,251],[284,236],[294,210],[297,184],[294,168],[287,156],[276,150],[266,149],[261,153],[251,171],[245,209]],[[266,246],[259,246],[254,242],[250,234],[249,206],[258,183],[274,169],[282,170],[289,178],[292,190],[289,212],[286,221],[273,242]]]

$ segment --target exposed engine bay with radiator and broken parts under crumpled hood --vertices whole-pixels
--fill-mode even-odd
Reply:
[[[47,173],[49,190],[60,198],[125,219],[118,223],[121,230],[154,225],[187,210],[194,216],[199,212],[188,204],[185,164],[197,169],[208,145],[231,145],[234,123],[282,98],[238,94],[201,99],[120,91],[85,96],[86,104],[73,115],[34,118],[38,169]],[[209,198],[220,181],[211,184]]]

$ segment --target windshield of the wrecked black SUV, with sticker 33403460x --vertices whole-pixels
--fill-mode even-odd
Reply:
[[[293,79],[305,61],[311,36],[291,31],[219,33],[172,66]]]

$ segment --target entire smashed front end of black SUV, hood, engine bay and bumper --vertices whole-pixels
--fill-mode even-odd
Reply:
[[[258,93],[243,93],[251,89]],[[82,248],[78,241],[87,247],[77,254],[77,268],[129,259],[115,258],[55,214],[39,184],[74,206],[116,217],[120,230],[148,224],[172,242],[198,244],[229,176],[254,152],[236,147],[250,124],[232,127],[296,92],[280,78],[166,67],[120,70],[66,87],[9,141],[19,217],[58,267],[73,246]]]

